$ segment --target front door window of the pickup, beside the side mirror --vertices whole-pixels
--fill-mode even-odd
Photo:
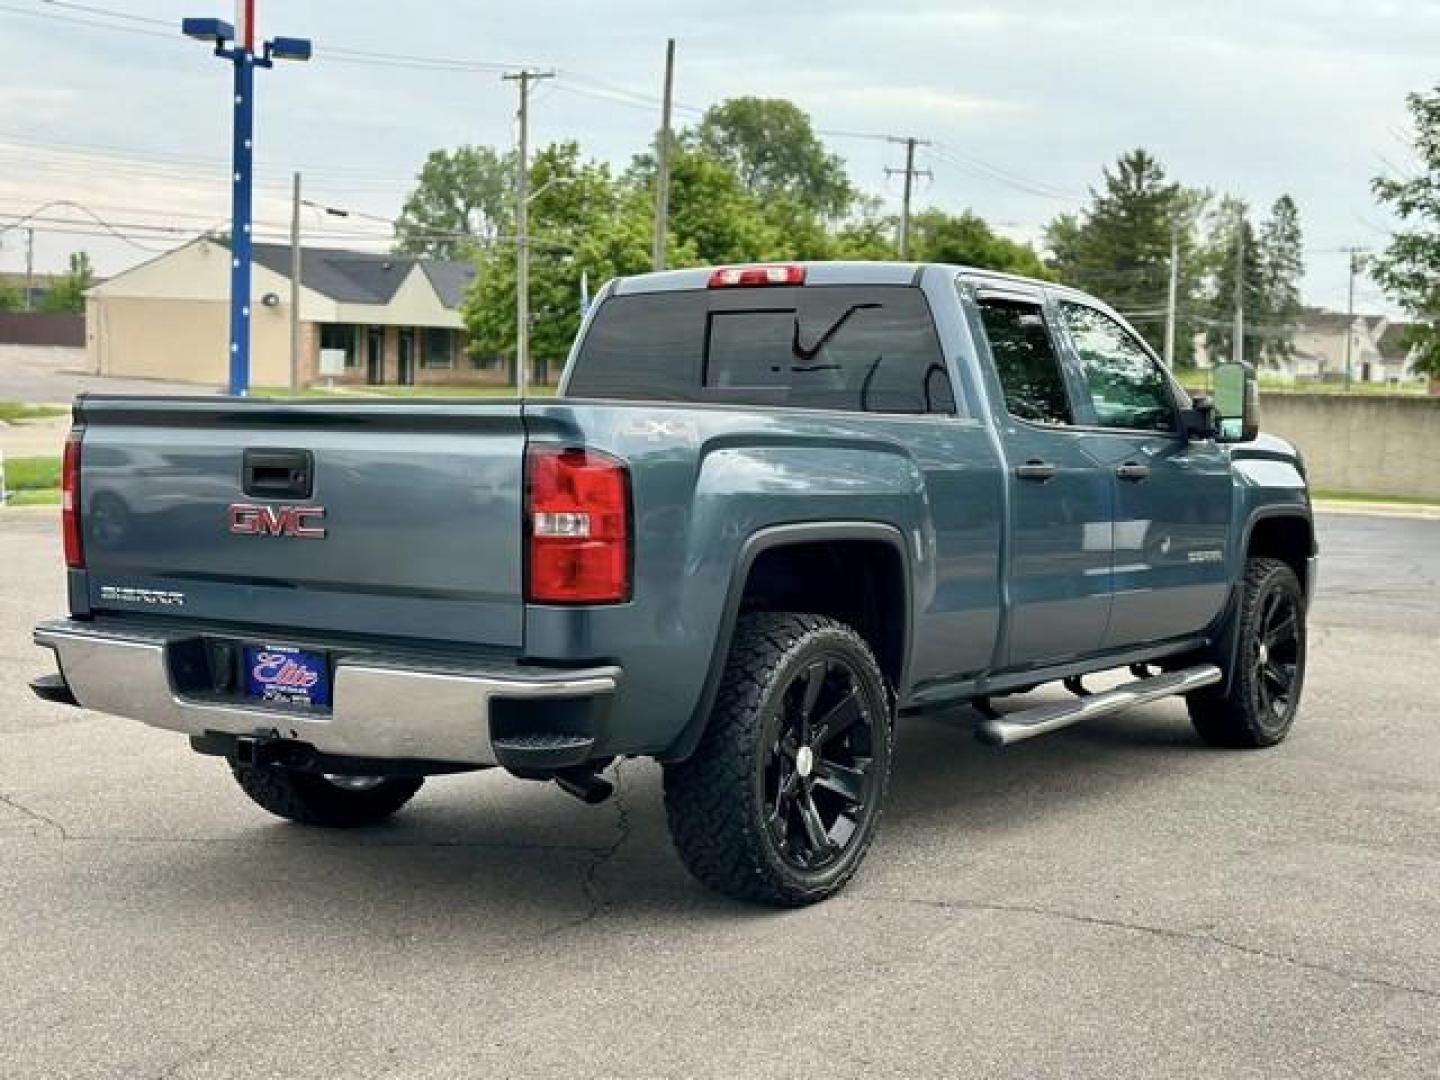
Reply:
[[[1175,397],[1155,359],[1103,311],[1060,304],[1102,428],[1175,431]]]

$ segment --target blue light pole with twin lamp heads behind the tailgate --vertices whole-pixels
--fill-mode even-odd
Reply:
[[[274,37],[255,55],[255,0],[236,0],[236,27],[223,19],[186,19],[186,37],[215,45],[215,55],[235,66],[235,141],[230,166],[230,383],[243,397],[251,389],[251,210],[255,158],[255,69],[275,60],[308,60],[305,37]],[[226,48],[226,42],[233,42]]]

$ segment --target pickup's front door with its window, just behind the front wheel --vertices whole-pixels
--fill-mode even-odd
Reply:
[[[1083,384],[1081,442],[1115,490],[1115,603],[1104,648],[1198,634],[1225,603],[1230,454],[1191,439],[1175,386],[1145,344],[1107,312],[1057,304]]]

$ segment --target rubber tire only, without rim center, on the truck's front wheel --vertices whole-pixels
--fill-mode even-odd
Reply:
[[[1295,570],[1279,559],[1250,559],[1236,613],[1236,658],[1224,693],[1202,690],[1187,698],[1189,719],[1195,732],[1211,746],[1227,749],[1260,749],[1283,740],[1295,724],[1300,706],[1300,690],[1305,685],[1305,590]],[[1263,657],[1260,652],[1261,625],[1269,611],[1267,605],[1282,603],[1295,612],[1296,636],[1293,647],[1293,683],[1286,694],[1283,708],[1267,706],[1274,687],[1263,687]]]

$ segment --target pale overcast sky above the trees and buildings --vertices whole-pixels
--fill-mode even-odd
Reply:
[[[557,69],[534,98],[537,144],[576,138],[624,163],[658,122],[664,39],[677,45],[677,122],[726,96],[786,96],[818,128],[917,135],[933,180],[922,206],[976,210],[1038,239],[1117,153],[1143,145],[1187,184],[1264,210],[1300,206],[1306,298],[1344,307],[1349,245],[1382,246],[1377,173],[1413,167],[1407,91],[1440,84],[1440,0],[258,0],[266,36],[311,36],[317,59],[259,75],[261,235],[288,228],[289,173],[307,196],[392,219],[435,147],[514,137],[498,66]],[[89,9],[89,10],[86,10]],[[102,17],[95,9],[127,13]],[[204,229],[226,216],[229,69],[171,32],[226,0],[0,0],[0,228],[73,200],[122,232]],[[147,22],[147,20],[158,20]],[[327,49],[454,58],[416,69]],[[903,150],[828,137],[864,189],[891,203]],[[59,207],[55,219],[88,219]],[[92,222],[76,229],[95,229]],[[382,238],[384,225],[308,215],[311,239]],[[343,230],[343,232],[337,232]],[[279,238],[276,235],[276,238]],[[163,248],[37,232],[40,269],[84,246],[101,272]],[[0,235],[0,269],[24,265]],[[1382,305],[1361,282],[1359,307]]]

